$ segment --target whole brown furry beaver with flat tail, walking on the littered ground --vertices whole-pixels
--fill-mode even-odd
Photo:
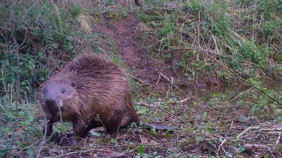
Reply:
[[[73,123],[71,144],[96,127],[105,127],[106,134],[116,138],[118,129],[133,122],[142,123],[131,103],[125,71],[105,55],[88,52],[77,57],[42,83],[40,89],[40,105],[48,121],[47,136],[51,136],[52,125],[60,120]]]

